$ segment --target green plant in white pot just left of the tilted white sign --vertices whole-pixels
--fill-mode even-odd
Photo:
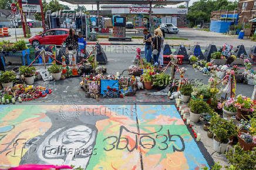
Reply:
[[[22,66],[19,68],[19,74],[23,75],[25,77],[26,84],[33,84],[35,77],[34,74],[36,72],[35,67],[31,66]]]

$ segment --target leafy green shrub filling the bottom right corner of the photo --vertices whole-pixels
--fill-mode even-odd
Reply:
[[[235,170],[255,169],[256,151],[244,151],[239,144],[235,145],[234,151],[227,153],[228,163],[233,165]]]

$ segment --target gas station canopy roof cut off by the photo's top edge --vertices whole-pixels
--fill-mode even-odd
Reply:
[[[176,5],[190,0],[61,0],[70,4],[166,4]]]

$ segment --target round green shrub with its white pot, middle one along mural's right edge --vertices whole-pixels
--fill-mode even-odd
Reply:
[[[201,99],[191,99],[188,102],[188,107],[190,107],[190,120],[197,122],[200,115],[211,111],[210,106]]]

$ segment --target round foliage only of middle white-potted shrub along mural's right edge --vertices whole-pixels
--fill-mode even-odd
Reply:
[[[202,113],[208,113],[212,112],[213,110],[210,108],[210,106],[206,103],[206,101],[203,101],[201,99],[191,99],[188,102],[188,107],[190,107],[191,112],[196,114],[202,114]]]

